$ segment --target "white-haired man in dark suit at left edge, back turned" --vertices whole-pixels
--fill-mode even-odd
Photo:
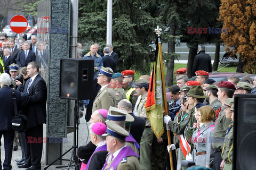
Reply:
[[[12,169],[12,145],[14,139],[14,131],[12,130],[12,118],[14,117],[14,107],[13,107],[13,96],[9,84],[11,83],[11,77],[7,73],[0,75],[0,140],[2,135],[4,135],[4,152],[5,159],[3,168]],[[15,98],[17,103],[17,109],[20,110],[20,92],[13,90],[15,92]],[[1,146],[1,143],[0,143]],[[0,151],[1,154],[1,151]],[[1,157],[1,155],[0,155]],[[2,162],[0,159],[0,168],[2,169]]]

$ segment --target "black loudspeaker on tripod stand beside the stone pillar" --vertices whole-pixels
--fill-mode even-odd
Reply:
[[[93,99],[94,60],[65,58],[60,60],[60,98]]]

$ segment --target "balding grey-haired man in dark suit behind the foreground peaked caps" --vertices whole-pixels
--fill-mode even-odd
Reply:
[[[117,108],[127,111],[127,113],[129,113],[130,115],[132,115],[132,117],[134,117],[134,122],[132,122],[132,124],[131,124],[130,133],[132,134],[132,137],[138,143],[140,143],[142,133],[146,126],[145,118],[143,118],[141,116],[135,116],[132,113],[132,103],[131,103],[131,101],[129,101],[127,99],[123,99],[123,100],[119,101]]]

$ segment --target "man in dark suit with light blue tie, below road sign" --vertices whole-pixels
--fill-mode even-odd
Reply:
[[[16,63],[19,67],[26,67],[28,63],[36,61],[36,54],[29,50],[30,44],[28,41],[23,43],[22,48],[24,49],[19,51]]]

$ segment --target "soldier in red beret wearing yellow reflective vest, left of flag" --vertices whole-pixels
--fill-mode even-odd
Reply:
[[[135,72],[133,70],[125,70],[121,73],[123,75],[123,89],[126,99],[131,101],[133,110],[138,99],[138,94],[136,91],[134,91],[135,88],[133,88]]]

